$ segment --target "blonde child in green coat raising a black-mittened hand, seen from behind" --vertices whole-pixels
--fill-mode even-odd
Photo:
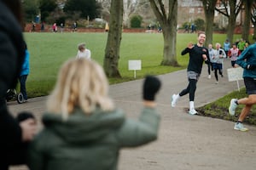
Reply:
[[[117,169],[121,148],[157,139],[160,114],[154,100],[160,85],[157,77],[145,77],[143,109],[133,121],[108,97],[108,79],[101,65],[83,58],[68,60],[48,99],[44,129],[32,141],[28,167]]]

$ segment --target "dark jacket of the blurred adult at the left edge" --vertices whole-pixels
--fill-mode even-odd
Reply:
[[[7,169],[14,161],[15,150],[21,144],[21,129],[9,114],[5,94],[15,88],[24,57],[24,45],[20,24],[0,1],[0,169]]]

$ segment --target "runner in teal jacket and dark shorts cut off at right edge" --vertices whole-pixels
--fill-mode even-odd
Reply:
[[[247,98],[231,99],[229,113],[234,116],[238,105],[245,105],[241,110],[240,116],[235,124],[234,129],[247,131],[242,122],[256,104],[256,44],[250,45],[236,60],[236,65],[243,68],[243,80],[248,94]]]

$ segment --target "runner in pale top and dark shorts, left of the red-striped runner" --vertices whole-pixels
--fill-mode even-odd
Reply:
[[[214,70],[214,76],[216,79],[216,84],[218,84],[218,74],[223,77],[223,61],[224,58],[226,58],[226,54],[224,52],[224,49],[220,48],[220,43],[216,43],[215,45],[216,49],[214,51],[214,54],[212,56],[212,67]]]

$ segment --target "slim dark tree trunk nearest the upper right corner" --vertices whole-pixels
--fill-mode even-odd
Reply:
[[[251,8],[253,7],[252,0],[244,1],[244,8],[245,8],[245,19],[243,22],[241,37],[244,40],[248,41],[248,37],[250,34],[250,22],[251,22]]]

